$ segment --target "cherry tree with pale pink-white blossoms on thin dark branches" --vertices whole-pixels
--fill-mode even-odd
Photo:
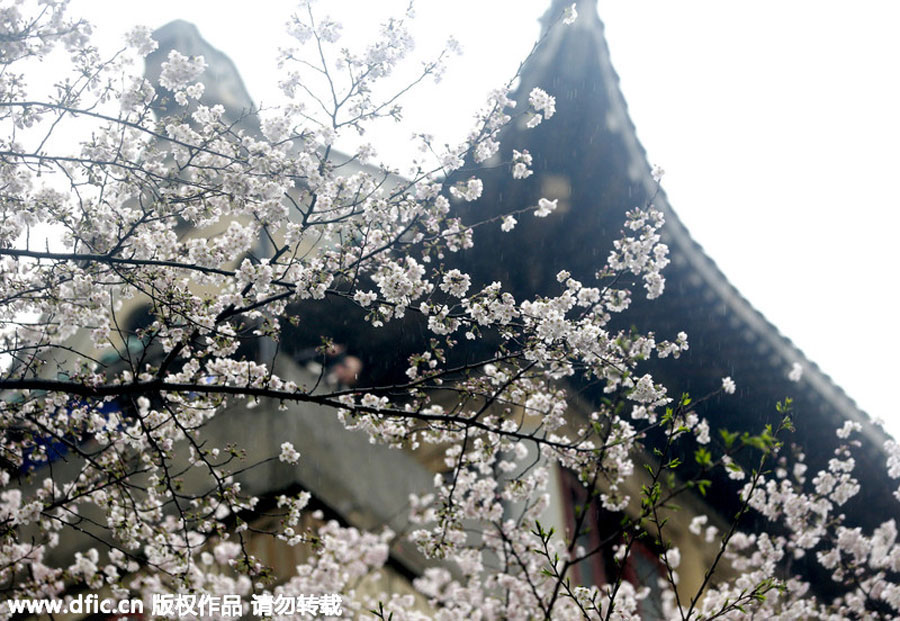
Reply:
[[[837,430],[844,444],[827,469],[809,476],[796,454],[788,470],[789,401],[778,405],[781,423],[757,435],[712,429],[695,412],[711,395],[675,396],[644,369],[651,357],[677,358],[688,336],[611,328],[633,296],[664,292],[665,223],[652,204],[628,213],[593,281],[562,271],[552,296],[515,299],[454,267],[481,227],[509,231],[556,208],[535,196],[481,221],[454,208],[481,196],[488,160],[499,158],[512,179],[531,174],[532,154],[506,149],[502,130],[517,119],[554,122],[552,93],[535,88],[517,107],[512,76],[462,144],[421,136],[422,156],[403,174],[372,164],[368,145],[341,153],[342,137],[399,118],[403,93],[439,76],[452,44],[413,84],[384,94],[378,85],[390,84],[411,49],[411,15],[351,51],[320,8],[301,3],[291,18],[296,49],[281,60],[291,103],[248,110],[242,120],[256,132],[201,103],[202,58],[172,51],[157,82],[142,77],[138,61],[155,49],[148,30],[135,28],[119,54],[102,58],[65,1],[2,3],[5,596],[339,594],[341,614],[359,618],[632,619],[651,585],[627,580],[626,560],[647,541],[663,568],[667,618],[900,614],[895,523],[864,533],[840,514],[862,484],[853,475],[857,424]],[[553,27],[575,18],[573,7]],[[51,57],[67,61],[58,81],[31,84],[28,67]],[[373,329],[425,327],[404,352],[402,379],[302,385],[276,372],[285,328],[328,300],[360,309]],[[143,320],[129,324],[142,305]],[[460,360],[452,350],[466,342],[486,353]],[[323,340],[316,355],[340,347]],[[601,383],[608,399],[580,410],[570,394],[578,378]],[[719,393],[734,392],[723,378]],[[260,403],[286,416],[294,404],[327,406],[374,443],[441,447],[446,470],[430,493],[411,497],[408,532],[310,525],[306,514],[317,512],[307,492],[272,499],[279,525],[263,532],[260,499],[238,482],[254,464],[206,435],[229,408]],[[900,447],[886,450],[889,475],[900,477]],[[268,458],[304,459],[289,442]],[[541,523],[559,467],[585,491],[570,533]],[[184,486],[187,470],[202,485]],[[667,516],[681,498],[707,493],[711,472],[734,481],[717,493],[736,495],[740,510],[719,527],[706,515],[692,520],[691,532],[718,552],[687,592],[676,588],[682,552]],[[585,547],[577,534],[596,511],[621,519]],[[742,531],[750,513],[770,527]],[[88,545],[56,560],[74,534]],[[296,575],[275,581],[247,546],[261,536],[309,549]],[[360,589],[398,537],[433,561],[413,581],[419,595]],[[618,571],[579,584],[574,568],[613,547]],[[832,586],[814,589],[791,573],[790,560],[807,555]],[[11,614],[8,603],[0,610]]]

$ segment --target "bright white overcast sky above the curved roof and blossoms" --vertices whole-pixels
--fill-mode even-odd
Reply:
[[[376,141],[383,157],[399,165],[412,131],[463,138],[486,93],[530,49],[549,4],[419,0],[420,49],[452,34],[464,55],[410,100],[402,131]],[[666,169],[663,186],[694,239],[782,334],[900,435],[900,3],[600,4],[638,137]],[[291,2],[154,0],[140,14],[122,12],[130,6],[74,0],[72,12],[112,45],[135,23],[192,21],[234,60],[256,102],[277,98],[273,59]],[[320,0],[318,10],[342,21],[355,44],[404,6]]]

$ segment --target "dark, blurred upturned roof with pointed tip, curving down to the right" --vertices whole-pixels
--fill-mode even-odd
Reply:
[[[724,376],[734,378],[736,395],[702,408],[713,427],[758,432],[764,423],[778,422],[776,403],[792,397],[797,430],[787,439],[806,450],[813,472],[833,456],[835,430],[845,421],[860,423],[863,446],[854,453],[854,474],[863,490],[844,509],[851,522],[864,527],[896,516],[891,494],[896,486],[885,474],[888,436],[753,308],[691,238],[651,175],[610,62],[596,0],[577,2],[573,25],[548,29],[571,4],[555,0],[545,14],[546,40],[524,67],[516,91],[521,110],[530,90],[543,88],[556,97],[557,116],[535,129],[519,123],[501,139],[504,159],[512,149],[531,152],[534,175],[514,180],[505,166],[479,175],[483,198],[464,211],[472,218],[489,217],[541,196],[559,199],[559,208],[546,219],[520,217],[509,233],[479,229],[474,248],[465,253],[466,266],[486,282],[501,280],[517,299],[558,292],[555,276],[561,269],[589,284],[622,229],[625,212],[652,202],[666,217],[663,241],[672,260],[664,270],[666,291],[648,302],[637,284],[627,320],[661,339],[684,330],[690,350],[677,361],[654,362],[649,370],[677,391],[676,397],[704,395],[720,387]],[[766,251],[762,243],[760,252]],[[787,377],[795,362],[804,369],[798,383]]]

